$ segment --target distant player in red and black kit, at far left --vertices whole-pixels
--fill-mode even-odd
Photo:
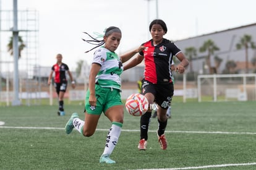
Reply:
[[[64,116],[64,93],[67,90],[67,79],[66,79],[66,72],[69,74],[69,78],[72,82],[72,88],[75,88],[75,82],[74,79],[72,77],[71,72],[69,71],[69,67],[67,66],[67,64],[64,64],[62,62],[62,55],[61,54],[57,54],[56,56],[57,62],[56,64],[53,65],[53,67],[51,67],[51,73],[49,75],[49,79],[48,79],[48,85],[50,85],[51,83],[51,79],[53,77],[53,73],[55,74],[54,76],[54,87],[56,89],[56,93],[58,94],[58,98],[59,98],[59,111],[58,111],[58,115],[59,116]]]

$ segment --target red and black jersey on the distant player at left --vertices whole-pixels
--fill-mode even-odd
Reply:
[[[67,64],[62,63],[61,65],[59,64],[54,64],[53,67],[51,67],[51,70],[54,71],[55,77],[54,77],[54,82],[55,83],[66,83],[66,71],[69,70],[69,67]]]

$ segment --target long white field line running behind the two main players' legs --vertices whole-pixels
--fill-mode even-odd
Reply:
[[[51,130],[64,130],[62,127],[22,127],[22,126],[1,126],[0,128],[6,129],[51,129]],[[99,131],[108,131],[109,129],[96,129]],[[140,132],[140,130],[122,129],[123,132]],[[156,130],[148,130],[148,132],[156,132]],[[241,134],[241,135],[256,135],[256,132],[207,132],[207,131],[182,131],[182,130],[166,130],[165,133],[186,133],[186,134]]]

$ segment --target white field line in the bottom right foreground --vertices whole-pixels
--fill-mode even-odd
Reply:
[[[205,169],[205,168],[219,168],[219,167],[227,167],[227,166],[248,166],[255,165],[256,163],[240,163],[240,164],[213,164],[207,166],[192,166],[192,167],[184,167],[184,168],[160,168],[158,170],[183,170],[183,169]],[[137,169],[142,170],[142,169]],[[153,170],[153,169],[143,169],[143,170]]]

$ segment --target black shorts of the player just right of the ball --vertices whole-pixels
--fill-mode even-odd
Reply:
[[[155,103],[163,109],[168,109],[173,99],[173,83],[153,84],[142,80],[142,93],[152,93],[155,96]]]

